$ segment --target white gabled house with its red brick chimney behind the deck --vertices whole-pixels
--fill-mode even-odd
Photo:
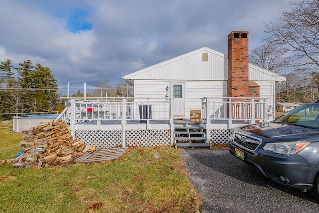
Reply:
[[[248,63],[248,32],[228,35],[228,55],[203,47],[123,76],[135,98],[173,99],[174,118],[190,118],[203,97],[267,98],[275,110],[275,83],[286,78]],[[166,91],[168,89],[168,91]]]

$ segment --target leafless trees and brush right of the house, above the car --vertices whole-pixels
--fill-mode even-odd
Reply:
[[[281,63],[292,69],[287,81],[277,85],[276,100],[312,102],[319,97],[319,0],[290,2],[290,8],[276,22],[265,24]],[[253,55],[258,59],[257,53]]]

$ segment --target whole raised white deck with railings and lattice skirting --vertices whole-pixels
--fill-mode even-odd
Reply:
[[[201,121],[174,119],[171,99],[68,99],[70,106],[59,118],[70,124],[74,138],[98,148],[174,145],[184,141],[178,135],[196,136],[188,131],[194,127],[200,128],[201,137],[187,138],[189,142],[228,143],[232,128],[268,119],[267,99],[260,98],[202,98]],[[144,116],[140,106],[152,106],[152,110]],[[187,127],[183,128],[186,133],[176,134],[176,127]]]

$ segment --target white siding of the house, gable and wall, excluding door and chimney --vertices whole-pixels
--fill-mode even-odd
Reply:
[[[207,53],[208,61],[203,61]],[[275,82],[285,77],[253,64],[248,64],[249,80],[260,86],[260,98],[268,98],[275,106]],[[228,55],[203,47],[170,60],[123,76],[134,86],[136,98],[165,98],[166,87],[172,94],[171,83],[183,82],[185,94],[185,117],[190,110],[201,110],[203,97],[227,97]]]

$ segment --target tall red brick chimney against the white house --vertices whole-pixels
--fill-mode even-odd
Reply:
[[[228,35],[228,97],[259,97],[259,86],[249,82],[248,32],[232,31]]]

